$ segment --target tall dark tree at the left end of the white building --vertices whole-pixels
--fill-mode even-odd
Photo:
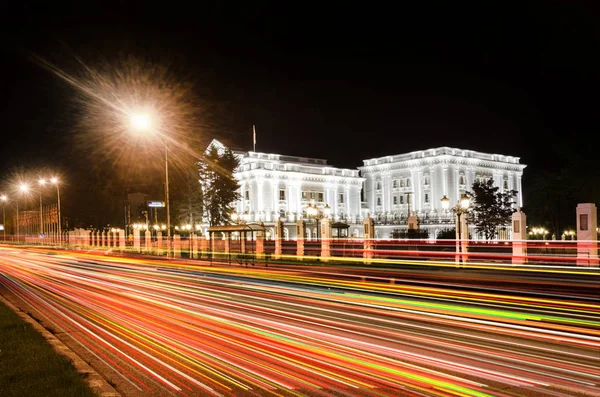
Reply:
[[[238,166],[239,160],[230,149],[220,152],[214,145],[198,163],[202,202],[210,226],[230,222],[233,203],[240,198],[239,184],[233,176]]]

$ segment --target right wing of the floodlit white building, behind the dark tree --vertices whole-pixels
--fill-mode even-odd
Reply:
[[[359,167],[365,178],[363,194],[381,238],[389,237],[394,225],[406,225],[409,212],[430,229],[431,237],[441,228],[454,227],[441,199],[447,196],[451,205],[456,204],[476,180],[493,178],[501,192],[516,190],[515,201],[523,205],[521,177],[526,165],[518,157],[440,147],[363,163]]]

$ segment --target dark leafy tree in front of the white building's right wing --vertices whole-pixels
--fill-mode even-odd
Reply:
[[[471,188],[471,220],[486,240],[492,240],[496,237],[499,226],[510,225],[510,218],[514,212],[512,205],[517,192],[499,192],[500,188],[494,186],[492,178],[485,182],[475,181]]]

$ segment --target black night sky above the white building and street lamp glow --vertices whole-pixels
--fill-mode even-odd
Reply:
[[[535,172],[559,166],[553,146],[599,131],[599,14],[584,3],[84,3],[5,10],[0,178],[71,161],[72,90],[32,53],[177,63],[218,109],[203,138],[250,149],[255,124],[259,151],[342,167],[444,145]]]

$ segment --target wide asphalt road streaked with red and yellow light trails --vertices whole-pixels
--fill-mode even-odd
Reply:
[[[597,269],[0,248],[0,287],[126,396],[600,396]]]

